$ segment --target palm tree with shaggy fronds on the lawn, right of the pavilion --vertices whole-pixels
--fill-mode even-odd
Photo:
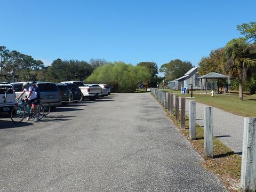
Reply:
[[[228,74],[239,79],[240,100],[243,100],[243,79],[256,63],[251,58],[252,51],[252,46],[245,38],[232,39],[225,47]]]

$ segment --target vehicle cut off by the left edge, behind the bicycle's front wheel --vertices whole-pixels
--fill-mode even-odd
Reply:
[[[10,84],[0,83],[0,112],[11,114],[12,108],[17,106],[15,91]]]

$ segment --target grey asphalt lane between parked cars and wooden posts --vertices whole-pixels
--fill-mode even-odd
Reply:
[[[227,191],[149,93],[0,116],[0,191]]]

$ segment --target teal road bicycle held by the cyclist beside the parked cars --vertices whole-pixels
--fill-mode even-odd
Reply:
[[[38,119],[42,119],[44,116],[44,107],[41,104],[36,105],[37,117]],[[19,106],[15,106],[11,112],[11,119],[14,123],[20,123],[26,117],[35,118],[33,108],[28,107],[28,104],[24,99],[21,99],[21,103]]]

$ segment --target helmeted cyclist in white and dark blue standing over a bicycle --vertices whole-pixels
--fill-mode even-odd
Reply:
[[[28,82],[23,83],[23,87],[24,87],[23,92],[16,99],[19,99],[23,94],[27,95],[27,98],[25,98],[24,100],[28,101],[29,108],[32,105],[34,115],[35,115],[35,122],[37,122],[39,118],[37,116],[37,111],[36,111],[36,102],[35,102],[37,100],[36,92],[35,90],[33,90],[33,86],[31,86]],[[29,121],[29,119],[30,117],[27,117],[27,121]]]

